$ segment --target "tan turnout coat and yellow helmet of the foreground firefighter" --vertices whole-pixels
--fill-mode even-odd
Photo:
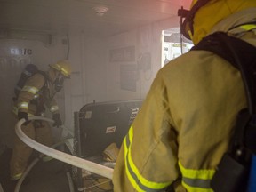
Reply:
[[[186,21],[186,22],[185,22]],[[198,44],[227,33],[256,46],[256,1],[193,0],[181,25]],[[124,138],[115,192],[212,192],[236,116],[247,107],[240,71],[207,51],[190,51],[161,68]]]

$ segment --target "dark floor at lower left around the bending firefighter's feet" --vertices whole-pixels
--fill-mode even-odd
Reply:
[[[5,148],[0,156],[0,183],[4,192],[14,192],[15,184],[9,180],[9,161],[12,149]],[[36,156],[36,155],[34,155]],[[33,158],[33,157],[32,157]],[[35,158],[34,158],[35,159]],[[33,159],[30,164],[35,162]],[[58,160],[38,161],[20,186],[20,192],[70,192],[69,166]],[[69,181],[69,182],[68,182]],[[74,189],[74,188],[73,188]],[[0,188],[1,191],[1,188]]]

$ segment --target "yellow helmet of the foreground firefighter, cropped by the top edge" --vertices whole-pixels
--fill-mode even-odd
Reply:
[[[252,0],[193,0],[181,25],[181,33],[197,44],[220,20],[255,6],[256,1]]]

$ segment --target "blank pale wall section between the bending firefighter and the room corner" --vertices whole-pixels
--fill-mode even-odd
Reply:
[[[86,36],[84,32],[69,36],[69,58],[72,76],[65,83],[66,125],[74,126],[74,112],[94,100],[106,101],[106,48],[102,39]]]

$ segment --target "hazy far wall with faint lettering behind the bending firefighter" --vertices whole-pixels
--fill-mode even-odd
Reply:
[[[66,57],[67,45],[61,43],[62,36],[51,37],[50,42],[48,35],[32,36],[28,33],[13,33],[0,39],[0,140],[4,140],[3,142],[9,147],[12,147],[14,125],[17,121],[12,113],[13,91],[23,68],[28,63],[34,63],[38,68],[47,70],[50,63],[63,60]],[[60,111],[65,115],[63,91],[57,94],[57,99],[60,104]],[[57,139],[60,134],[55,133],[54,136]]]

